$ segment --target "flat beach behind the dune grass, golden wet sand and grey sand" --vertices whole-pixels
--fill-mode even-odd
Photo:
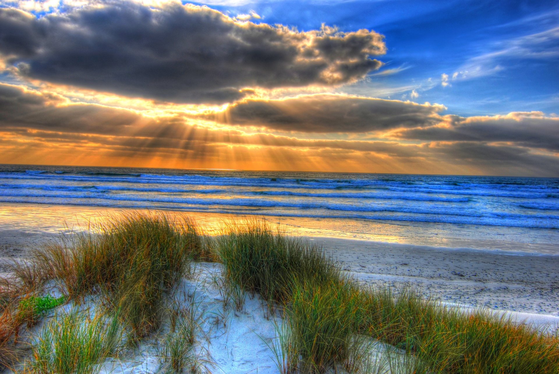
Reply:
[[[147,210],[3,204],[0,258],[25,258],[60,233],[87,229],[107,215]],[[225,214],[167,212],[192,217],[211,234],[224,222],[243,219]],[[269,218],[277,222],[277,218]],[[281,222],[281,221],[280,221]],[[559,256],[551,246],[538,253],[421,246],[409,243],[310,236],[309,228],[283,226],[286,232],[315,243],[366,285],[411,286],[446,303],[559,317]],[[324,234],[321,231],[320,234]],[[506,243],[505,243],[506,244]],[[5,268],[4,268],[5,270]]]

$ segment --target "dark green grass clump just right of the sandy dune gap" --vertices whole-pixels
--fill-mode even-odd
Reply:
[[[226,280],[269,303],[287,304],[301,282],[340,279],[340,269],[320,248],[287,236],[263,219],[227,224],[217,252]]]

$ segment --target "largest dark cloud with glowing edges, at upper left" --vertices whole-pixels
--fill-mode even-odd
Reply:
[[[20,74],[170,102],[349,83],[379,68],[369,56],[384,52],[373,31],[298,32],[191,4],[105,2],[41,18],[0,9],[0,53]]]

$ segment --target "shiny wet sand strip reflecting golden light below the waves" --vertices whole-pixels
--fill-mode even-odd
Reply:
[[[36,203],[0,203],[0,231],[17,229],[30,233],[58,234],[72,229],[87,228],[89,219],[103,215],[126,212],[164,212],[187,215],[210,234],[219,234],[223,222],[234,219],[263,218],[280,224],[293,236],[348,239],[375,242],[380,245],[411,245],[432,250],[473,250],[503,253],[537,253],[559,255],[559,230],[531,229],[538,232],[538,242],[524,229],[515,227],[484,226],[472,224],[442,224],[434,222],[393,222],[382,220],[342,218],[301,218],[267,216],[264,214],[235,214],[197,212],[190,210],[165,210],[151,208],[95,207],[89,205],[56,205]],[[520,231],[519,231],[520,230]],[[532,233],[533,233],[532,232]]]

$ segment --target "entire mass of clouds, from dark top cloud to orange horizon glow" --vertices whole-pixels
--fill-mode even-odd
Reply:
[[[559,176],[555,114],[329,93],[382,65],[374,31],[173,1],[56,4],[0,8],[0,162]]]

